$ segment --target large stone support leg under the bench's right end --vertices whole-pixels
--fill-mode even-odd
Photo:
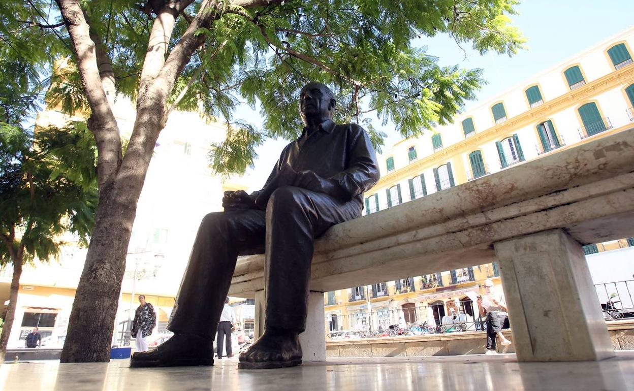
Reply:
[[[518,361],[614,356],[581,245],[561,229],[495,243]]]

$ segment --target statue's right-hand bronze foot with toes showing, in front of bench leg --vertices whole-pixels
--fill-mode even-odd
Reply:
[[[302,347],[295,331],[268,328],[246,352],[240,354],[240,369],[284,368],[302,363]]]

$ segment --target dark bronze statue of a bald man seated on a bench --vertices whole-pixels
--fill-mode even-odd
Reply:
[[[331,226],[361,215],[363,192],[378,181],[368,134],[332,120],[330,89],[310,82],[299,96],[301,137],[288,144],[260,191],[228,191],[224,212],[198,229],[167,328],[175,333],[131,366],[212,365],[213,338],[238,255],[266,254],[264,333],[240,355],[239,368],[281,368],[302,362],[313,243]]]

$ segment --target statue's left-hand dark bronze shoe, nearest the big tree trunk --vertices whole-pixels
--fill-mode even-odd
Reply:
[[[214,365],[214,342],[193,334],[175,334],[150,352],[135,352],[131,368]]]

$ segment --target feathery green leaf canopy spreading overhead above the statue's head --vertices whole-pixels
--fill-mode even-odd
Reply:
[[[4,36],[24,27],[16,22],[20,18],[60,21],[48,1],[11,3],[15,6],[0,11]],[[91,31],[110,55],[117,91],[130,98],[137,94],[155,18],[150,5],[157,3],[165,2],[81,1]],[[169,49],[200,3],[194,1],[178,17]],[[479,53],[509,55],[525,42],[509,18],[518,0],[288,0],[259,8],[223,4],[216,20],[198,30],[204,44],[184,68],[168,102],[226,122],[229,138],[213,145],[210,153],[211,167],[221,174],[243,172],[264,139],[299,135],[297,94],[307,81],[328,84],[339,101],[337,120],[362,124],[380,148],[385,135],[372,127],[372,117],[384,124],[392,121],[404,137],[417,136],[450,122],[484,83],[479,69],[440,67],[426,49],[411,47],[413,39],[450,34],[456,49],[470,43]],[[18,34],[32,34],[26,37],[31,41],[57,40],[46,53],[33,53],[38,60],[71,54],[63,29],[34,27]],[[67,69],[70,74],[61,74],[63,82],[56,83],[60,87],[53,88],[51,99],[72,112],[85,101],[76,71]],[[261,129],[235,123],[240,101],[252,107],[261,104]],[[241,129],[231,130],[236,126]]]

